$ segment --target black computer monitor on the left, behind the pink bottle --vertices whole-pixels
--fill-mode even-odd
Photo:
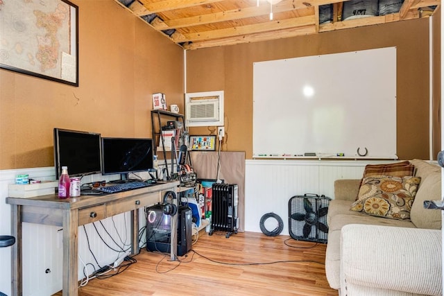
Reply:
[[[101,135],[54,128],[54,166],[56,178],[62,166],[68,167],[70,177],[101,173]]]

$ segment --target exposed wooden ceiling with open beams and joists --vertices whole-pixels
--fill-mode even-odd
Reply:
[[[278,0],[114,1],[184,49],[259,42],[417,19],[431,15],[441,4],[441,0],[404,0],[399,11],[400,5],[395,12],[382,15],[375,10],[372,11],[376,13],[368,13],[352,6],[353,2],[366,2],[352,0],[282,0],[278,3],[275,3]],[[377,0],[373,1],[377,3]],[[386,6],[393,8],[402,1],[384,2],[393,3],[393,6]],[[273,19],[270,12],[273,12]],[[366,17],[348,18],[351,13]],[[343,20],[345,17],[348,19]]]

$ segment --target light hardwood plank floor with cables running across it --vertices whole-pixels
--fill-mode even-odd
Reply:
[[[325,247],[289,236],[200,232],[180,261],[142,250],[137,263],[117,276],[90,280],[78,295],[336,296],[325,278]]]

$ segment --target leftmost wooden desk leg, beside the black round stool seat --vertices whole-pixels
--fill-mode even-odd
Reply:
[[[23,295],[22,279],[22,206],[11,204],[11,235],[15,244],[11,246],[11,293]]]

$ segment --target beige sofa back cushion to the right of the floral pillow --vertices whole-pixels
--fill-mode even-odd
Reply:
[[[410,219],[418,228],[441,229],[441,211],[424,209],[425,200],[441,200],[441,171],[428,172],[416,193]]]

